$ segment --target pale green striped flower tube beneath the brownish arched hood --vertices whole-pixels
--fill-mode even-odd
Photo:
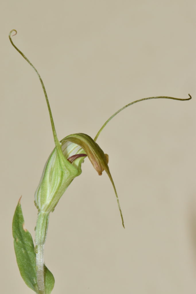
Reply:
[[[66,148],[55,147],[49,156],[35,192],[35,204],[39,211],[51,212],[73,179],[81,174],[81,164],[86,154],[78,154],[73,163],[68,158],[77,155],[81,147],[68,142]],[[73,154],[74,153],[74,154]]]

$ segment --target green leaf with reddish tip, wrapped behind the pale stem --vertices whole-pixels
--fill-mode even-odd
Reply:
[[[22,214],[20,199],[16,207],[12,222],[12,233],[14,237],[14,250],[16,260],[20,270],[21,277],[26,285],[36,293],[37,277],[36,277],[36,253],[31,234],[24,226],[24,218]],[[45,291],[50,294],[54,287],[53,274],[44,265]]]

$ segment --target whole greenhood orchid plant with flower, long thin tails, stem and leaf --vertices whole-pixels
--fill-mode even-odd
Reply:
[[[48,96],[41,76],[33,64],[31,64],[29,59],[27,59],[27,57],[13,43],[11,38],[11,34],[13,32],[15,33],[13,36],[17,33],[16,30],[12,30],[10,32],[9,39],[11,44],[33,67],[41,82],[48,106],[55,143],[55,147],[46,161],[40,182],[35,192],[35,205],[38,209],[38,218],[35,229],[36,245],[34,246],[33,244],[31,234],[24,228],[24,218],[19,200],[13,218],[14,249],[21,276],[28,287],[37,294],[50,294],[54,286],[54,278],[52,273],[46,268],[43,260],[49,214],[54,210],[61,196],[71,184],[73,179],[81,174],[81,165],[86,157],[88,157],[88,159],[91,161],[93,168],[97,171],[98,175],[101,175],[103,171],[107,173],[115,192],[122,224],[124,227],[124,220],[117,191],[108,167],[108,155],[105,154],[100,146],[96,143],[96,140],[103,128],[115,115],[134,103],[158,98],[185,101],[190,100],[191,96],[189,95],[189,98],[187,99],[158,96],[142,98],[133,101],[125,105],[123,108],[120,108],[117,112],[110,116],[110,118],[108,118],[108,120],[100,128],[94,139],[84,133],[77,133],[66,136],[61,141],[59,141],[56,135]]]

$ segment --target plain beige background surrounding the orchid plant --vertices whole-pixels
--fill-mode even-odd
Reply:
[[[195,293],[195,1],[2,1],[1,293],[30,294],[20,277],[11,221],[21,195],[34,238],[34,191],[53,149],[40,72],[58,138],[95,136],[105,173],[88,160],[51,214],[45,262],[53,294]]]

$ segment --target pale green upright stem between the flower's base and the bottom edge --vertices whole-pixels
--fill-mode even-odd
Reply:
[[[39,294],[45,294],[44,283],[44,245],[46,242],[46,235],[48,230],[49,213],[39,212],[37,217],[37,224],[35,230],[35,243],[36,243],[36,274],[37,274],[37,287]]]

